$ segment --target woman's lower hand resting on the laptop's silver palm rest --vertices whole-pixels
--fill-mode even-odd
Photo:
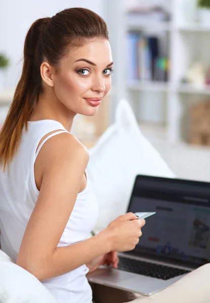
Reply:
[[[89,268],[89,273],[95,271],[101,265],[111,265],[114,268],[117,268],[119,258],[116,251],[110,251],[108,254],[96,257],[91,260],[86,266]]]

